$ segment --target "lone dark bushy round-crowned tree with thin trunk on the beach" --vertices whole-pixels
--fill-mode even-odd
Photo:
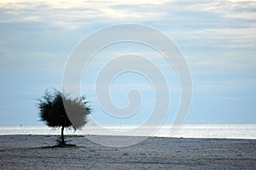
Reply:
[[[73,127],[76,130],[83,127],[90,114],[90,107],[84,96],[72,99],[58,90],[46,90],[42,99],[38,101],[40,121],[49,127],[61,127],[61,144],[66,144],[64,128]]]

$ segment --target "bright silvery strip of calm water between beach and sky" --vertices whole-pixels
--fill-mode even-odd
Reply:
[[[87,125],[83,129],[73,131],[66,130],[66,134],[96,134],[96,135],[130,135],[148,136],[148,131],[156,129],[154,126],[138,128],[131,133],[129,130],[136,126],[106,126],[102,131],[97,126]],[[226,139],[256,139],[256,124],[243,125],[183,125],[174,135],[171,135],[171,126],[164,125],[150,136],[177,137],[177,138],[226,138]],[[52,129],[46,126],[6,126],[0,127],[0,135],[11,134],[60,134],[60,129]]]

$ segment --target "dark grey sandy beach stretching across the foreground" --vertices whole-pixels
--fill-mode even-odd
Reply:
[[[256,140],[148,138],[112,148],[76,136],[67,140],[81,147],[42,148],[56,138],[0,136],[0,169],[256,169]]]

